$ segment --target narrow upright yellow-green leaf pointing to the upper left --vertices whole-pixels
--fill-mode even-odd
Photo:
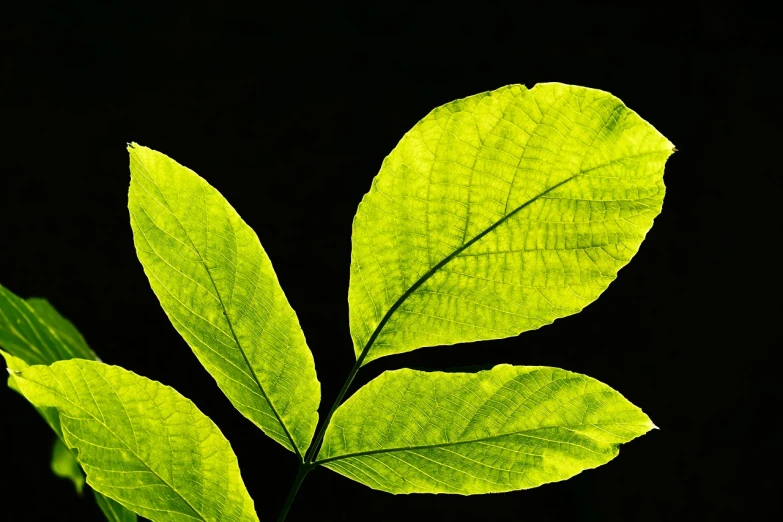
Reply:
[[[258,237],[195,172],[128,151],[136,252],[163,309],[234,406],[301,459],[321,388]]]

